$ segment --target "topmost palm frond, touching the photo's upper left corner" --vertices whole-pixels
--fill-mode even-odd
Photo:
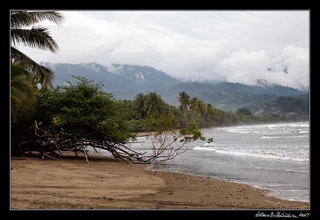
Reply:
[[[22,28],[35,25],[42,21],[50,21],[61,26],[65,22],[65,17],[56,11],[11,11],[11,28]]]

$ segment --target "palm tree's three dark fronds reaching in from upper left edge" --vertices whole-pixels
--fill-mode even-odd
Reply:
[[[62,25],[65,17],[55,11],[11,11],[10,35],[11,35],[11,62],[19,63],[29,69],[39,80],[41,85],[53,88],[54,72],[32,60],[29,56],[17,50],[16,46],[25,46],[51,53],[57,53],[59,46],[50,35],[48,28],[36,24],[42,21],[50,21]],[[31,29],[26,29],[32,26]]]

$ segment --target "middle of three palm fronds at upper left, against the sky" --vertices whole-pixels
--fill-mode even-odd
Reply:
[[[26,46],[56,53],[59,46],[48,32],[48,28],[37,26],[29,29],[11,29],[13,45]]]

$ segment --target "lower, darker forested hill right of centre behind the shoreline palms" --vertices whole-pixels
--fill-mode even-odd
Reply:
[[[270,102],[281,96],[296,96],[304,92],[290,87],[272,85],[270,87],[248,86],[240,83],[221,82],[205,84],[200,82],[179,83],[159,90],[165,102],[177,106],[178,94],[187,92],[205,103],[211,103],[218,109],[235,112],[239,108],[264,102]]]

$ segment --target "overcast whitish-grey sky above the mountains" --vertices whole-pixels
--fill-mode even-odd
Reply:
[[[60,11],[42,23],[59,52],[18,48],[37,62],[152,66],[180,80],[309,90],[310,11]]]

